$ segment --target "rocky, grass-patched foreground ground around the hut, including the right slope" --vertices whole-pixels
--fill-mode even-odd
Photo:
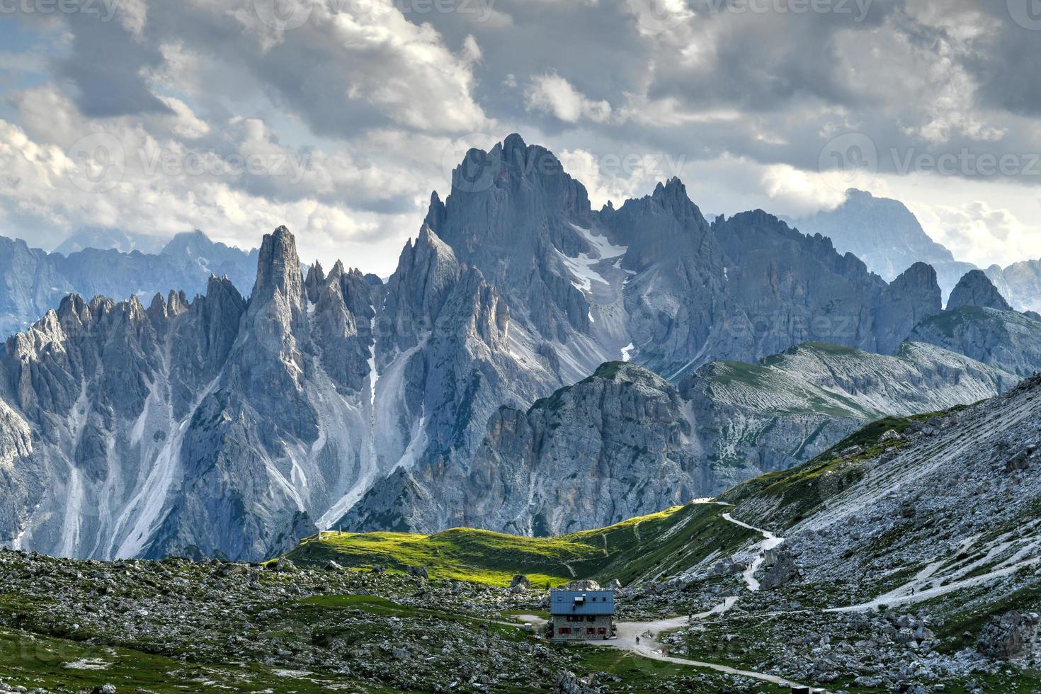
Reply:
[[[717,499],[529,555],[489,544],[467,555],[471,541],[445,538],[430,569],[375,552],[359,566],[364,542],[337,534],[318,538],[325,554],[295,555],[301,565],[4,550],[0,680],[46,691],[767,692],[794,682],[1029,692],[1041,686],[1039,422],[1034,377],[976,405],[872,422]],[[561,541],[593,548],[598,537],[603,555],[573,570],[617,579],[618,639],[545,643],[544,587],[499,576],[545,562]],[[435,577],[449,551],[473,579]]]

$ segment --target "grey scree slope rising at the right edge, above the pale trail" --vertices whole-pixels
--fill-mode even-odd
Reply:
[[[801,582],[842,584],[827,607],[928,608],[960,635],[1038,607],[1039,422],[1033,377],[924,421],[880,422],[722,499],[786,538]]]

